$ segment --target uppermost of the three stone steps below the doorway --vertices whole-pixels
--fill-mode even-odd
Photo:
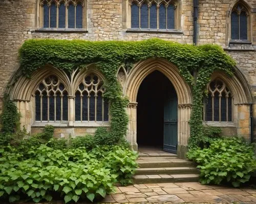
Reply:
[[[139,158],[137,163],[140,168],[155,168],[155,167],[187,167],[194,166],[193,162],[188,160],[181,160],[179,158],[168,158],[168,159],[142,159]]]

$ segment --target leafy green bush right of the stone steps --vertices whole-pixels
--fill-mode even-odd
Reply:
[[[190,150],[187,157],[199,164],[202,184],[227,182],[239,187],[256,170],[253,147],[241,138],[218,139],[209,148]]]

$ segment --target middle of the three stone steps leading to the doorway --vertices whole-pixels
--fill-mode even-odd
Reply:
[[[151,174],[197,174],[200,171],[195,167],[160,167],[160,168],[138,168],[135,175]]]

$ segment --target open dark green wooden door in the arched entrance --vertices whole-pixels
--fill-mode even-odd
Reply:
[[[178,144],[178,100],[175,89],[166,90],[164,99],[163,150],[177,152]]]

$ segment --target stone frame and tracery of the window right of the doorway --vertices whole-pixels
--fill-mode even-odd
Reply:
[[[215,87],[215,89],[212,90],[210,88],[210,84],[212,82],[215,82],[215,81],[220,81],[220,82],[222,82],[223,85],[220,89],[219,89],[219,87]],[[212,111],[212,120],[210,120],[210,121],[206,120],[206,101],[205,101],[204,104],[203,104],[203,121],[204,121],[204,124],[220,125],[220,126],[222,126],[222,125],[225,126],[225,125],[229,124],[229,126],[234,126],[234,96],[233,96],[231,90],[228,88],[228,85],[225,83],[224,80],[217,77],[217,78],[214,78],[210,81],[210,83],[207,85],[207,90],[208,90],[208,96],[210,94],[212,98],[214,98],[215,95],[219,93],[219,95],[218,95],[219,96],[219,120],[218,121],[214,120],[214,110]],[[228,97],[225,97],[226,100],[229,97],[231,98],[231,120],[228,120],[228,114],[230,114],[230,113],[228,113],[228,107],[226,107],[227,108],[227,110],[226,110],[227,111],[226,121],[221,121],[221,114],[220,114],[220,112],[221,112],[220,99],[221,99],[221,97],[223,97],[222,96],[223,92],[228,95]],[[208,96],[207,96],[207,98],[208,98]],[[212,100],[212,103],[214,103],[214,100]],[[228,104],[227,104],[227,101],[226,101],[226,106],[227,105]],[[214,109],[213,106],[214,105],[212,104],[212,109]]]

